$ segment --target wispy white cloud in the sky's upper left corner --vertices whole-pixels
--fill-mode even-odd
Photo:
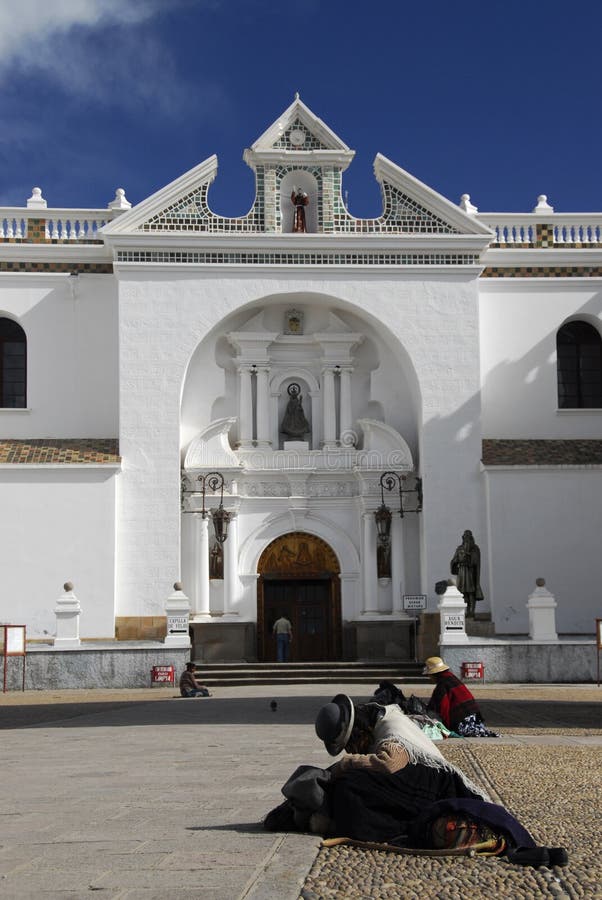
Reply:
[[[190,87],[152,20],[191,2],[199,0],[0,0],[0,82],[15,89],[39,73],[65,96],[177,116]],[[211,108],[219,88],[207,82],[206,94]]]

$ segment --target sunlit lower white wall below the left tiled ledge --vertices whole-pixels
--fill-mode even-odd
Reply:
[[[80,637],[114,636],[116,478],[100,467],[0,468],[0,621],[47,639],[56,633],[56,600],[72,581]]]

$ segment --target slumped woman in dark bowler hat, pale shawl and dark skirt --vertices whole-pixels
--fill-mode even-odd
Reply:
[[[537,847],[525,828],[452,765],[398,704],[355,707],[338,694],[318,712],[316,733],[331,756],[327,769],[301,766],[282,788],[284,803],[264,820],[269,831],[427,851],[445,847],[450,822],[471,823],[513,862],[564,865],[563,848]],[[443,831],[443,843],[438,835]]]

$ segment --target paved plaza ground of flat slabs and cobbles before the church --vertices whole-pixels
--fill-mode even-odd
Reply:
[[[357,700],[370,693],[344,689]],[[550,870],[319,849],[310,835],[263,831],[260,820],[296,765],[331,762],[313,721],[334,692],[2,695],[0,896],[602,897],[602,688],[477,686],[487,723],[503,737],[440,745],[538,840],[568,847],[570,865]],[[414,692],[424,695],[424,686]]]

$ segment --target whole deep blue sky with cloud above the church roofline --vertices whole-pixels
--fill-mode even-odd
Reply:
[[[1,0],[0,205],[137,203],[216,153],[241,215],[299,91],[356,151],[355,215],[377,152],[481,211],[602,211],[601,31],[594,0]]]

